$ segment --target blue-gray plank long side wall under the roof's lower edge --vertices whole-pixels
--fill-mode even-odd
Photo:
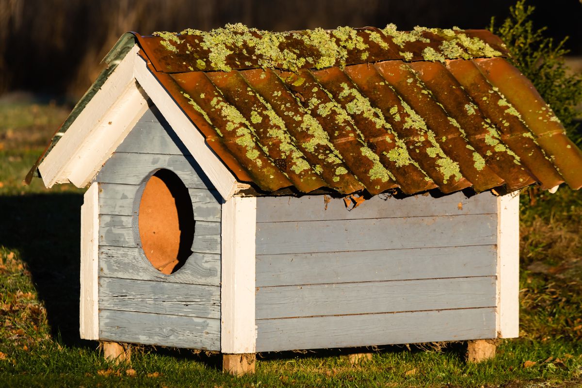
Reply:
[[[327,200],[257,198],[257,351],[495,338],[493,195]]]

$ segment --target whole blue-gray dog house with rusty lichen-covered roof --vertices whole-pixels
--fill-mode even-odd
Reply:
[[[392,25],[123,35],[31,170],[88,187],[81,337],[518,336],[519,189],[580,188],[582,153],[507,55]]]

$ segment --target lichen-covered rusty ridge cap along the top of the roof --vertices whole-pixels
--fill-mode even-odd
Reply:
[[[382,60],[473,59],[508,56],[505,44],[487,30],[429,29],[399,31],[377,27],[265,31],[226,24],[211,31],[158,31],[140,44],[157,71],[185,73],[243,69],[324,69]]]

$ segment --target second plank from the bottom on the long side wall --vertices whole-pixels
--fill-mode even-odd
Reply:
[[[258,287],[256,319],[495,307],[495,277]]]

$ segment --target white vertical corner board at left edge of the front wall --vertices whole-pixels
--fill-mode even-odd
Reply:
[[[86,340],[99,339],[99,184],[89,186],[81,206],[81,299],[79,333]]]

